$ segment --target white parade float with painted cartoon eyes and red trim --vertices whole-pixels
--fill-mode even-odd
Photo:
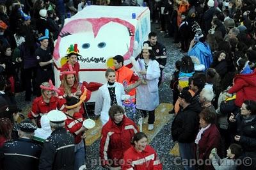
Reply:
[[[95,102],[97,89],[106,82],[105,70],[112,58],[124,56],[124,65],[132,68],[130,58],[138,58],[143,42],[150,33],[150,12],[141,6],[86,6],[65,19],[54,47],[56,86],[60,86],[60,68],[70,44],[77,43],[79,79],[92,91],[89,102]]]

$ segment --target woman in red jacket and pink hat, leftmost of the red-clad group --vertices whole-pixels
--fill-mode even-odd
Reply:
[[[65,99],[58,98],[54,95],[54,91],[58,91],[58,89],[53,86],[51,80],[49,82],[43,82],[40,88],[42,95],[35,98],[31,111],[28,113],[28,118],[38,127],[41,127],[40,118],[42,115],[45,115],[56,108],[63,110],[66,102]]]

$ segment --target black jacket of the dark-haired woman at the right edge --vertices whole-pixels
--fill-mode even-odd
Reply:
[[[236,129],[236,135],[240,135],[238,142],[243,147],[244,152],[256,153],[256,118],[245,123],[243,116],[237,114],[236,121],[230,123],[230,128]]]

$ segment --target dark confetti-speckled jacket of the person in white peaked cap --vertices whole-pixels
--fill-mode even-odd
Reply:
[[[75,141],[65,128],[57,128],[45,140],[39,162],[39,169],[74,169]]]

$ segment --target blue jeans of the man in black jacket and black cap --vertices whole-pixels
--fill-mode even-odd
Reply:
[[[188,164],[182,164],[185,170],[195,170],[195,166],[189,165],[189,160],[194,159],[195,160],[195,151],[194,151],[194,145],[195,143],[179,143],[179,152],[180,152],[180,158],[182,163],[188,163]]]

